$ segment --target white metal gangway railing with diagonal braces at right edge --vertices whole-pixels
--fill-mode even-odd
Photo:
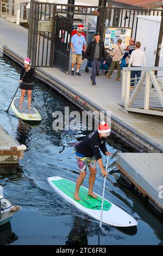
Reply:
[[[131,79],[131,71],[141,71],[141,77]],[[163,116],[162,74],[163,67],[123,68],[121,99],[125,111]]]

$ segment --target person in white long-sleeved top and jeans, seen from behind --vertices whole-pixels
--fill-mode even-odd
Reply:
[[[139,41],[136,42],[136,50],[131,53],[130,61],[129,61],[129,67],[141,67],[146,66],[146,57],[145,52],[140,50],[141,43]],[[137,78],[135,80],[135,77]],[[134,89],[135,82],[139,82],[141,77],[141,70],[133,70],[131,71],[131,84],[130,89]]]

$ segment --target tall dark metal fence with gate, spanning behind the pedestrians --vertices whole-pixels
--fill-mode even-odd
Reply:
[[[68,72],[70,58],[70,35],[73,15],[96,16],[99,20],[98,29],[109,27],[131,28],[132,36],[136,35],[138,15],[163,15],[162,10],[131,9],[116,7],[97,7],[72,4],[54,4],[30,1],[28,57],[35,66],[56,66]],[[68,17],[67,17],[68,16]]]

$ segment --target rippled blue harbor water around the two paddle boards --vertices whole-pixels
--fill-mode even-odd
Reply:
[[[118,151],[135,152],[111,135],[108,139],[109,175],[105,198],[120,206],[138,222],[137,227],[115,228],[103,225],[78,211],[55,193],[49,176],[76,181],[79,172],[72,142],[82,140],[89,131],[54,131],[54,111],[79,111],[45,84],[35,80],[32,103],[42,116],[40,124],[24,123],[12,110],[5,111],[20,79],[21,68],[7,57],[0,58],[1,125],[20,144],[27,146],[18,166],[0,167],[4,197],[21,205],[11,222],[0,227],[0,245],[162,245],[163,224],[134,194],[124,187],[116,167]],[[78,79],[78,78],[77,78]],[[20,96],[20,90],[17,93]],[[81,124],[78,124],[79,126]],[[106,164],[106,157],[103,157]],[[88,186],[89,173],[83,185]],[[94,191],[102,195],[103,181],[98,168]],[[146,234],[146,235],[145,235]]]

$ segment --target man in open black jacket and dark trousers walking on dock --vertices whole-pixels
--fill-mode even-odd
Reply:
[[[99,75],[99,66],[103,60],[106,63],[104,42],[101,41],[100,34],[95,34],[95,41],[92,41],[87,46],[87,49],[82,59],[87,58],[91,62],[92,74],[90,75],[90,83],[92,88],[96,88],[96,76]]]

